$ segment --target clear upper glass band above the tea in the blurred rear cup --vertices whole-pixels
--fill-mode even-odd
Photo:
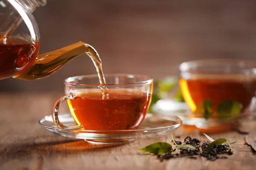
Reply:
[[[216,67],[215,70],[210,69],[214,67]],[[218,67],[220,67],[219,70]],[[232,67],[238,69],[233,69]],[[206,69],[201,70],[200,68]],[[179,70],[179,77],[184,79],[193,79],[196,77],[197,79],[200,77],[220,78],[227,76],[236,76],[239,79],[244,78],[244,76],[252,78],[256,76],[256,61],[245,59],[201,59],[183,62],[180,64]]]

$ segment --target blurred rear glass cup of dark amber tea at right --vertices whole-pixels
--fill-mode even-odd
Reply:
[[[209,59],[180,65],[180,89],[193,117],[227,121],[255,105],[256,62]]]

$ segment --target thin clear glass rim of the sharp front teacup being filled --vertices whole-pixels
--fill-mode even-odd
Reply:
[[[133,77],[145,77],[145,81],[140,82],[132,82],[132,83],[122,83],[122,84],[106,84],[106,85],[100,85],[100,84],[82,84],[82,83],[72,83],[75,79],[84,79],[84,78],[98,78],[98,74],[89,74],[89,75],[80,75],[80,76],[74,76],[74,77],[68,77],[67,79],[64,79],[65,85],[71,85],[71,86],[104,86],[104,87],[110,87],[110,86],[124,86],[124,85],[143,85],[143,84],[151,84],[153,82],[153,78],[143,75],[143,74],[104,74],[104,77],[127,77],[127,78],[133,78]]]

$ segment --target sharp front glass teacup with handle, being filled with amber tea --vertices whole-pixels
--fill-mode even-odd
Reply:
[[[52,108],[55,125],[84,130],[137,129],[151,102],[153,79],[144,75],[109,74],[105,75],[105,81],[106,85],[100,85],[98,75],[65,79],[66,95]],[[58,108],[64,100],[76,126],[65,126],[58,119]]]

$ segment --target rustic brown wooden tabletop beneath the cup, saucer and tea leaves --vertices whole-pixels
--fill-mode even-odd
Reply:
[[[170,135],[139,139],[120,146],[93,145],[48,133],[38,120],[50,114],[55,99],[61,94],[0,94],[0,169],[1,170],[255,170],[256,156],[244,144],[246,135],[231,131],[211,134],[226,137],[233,144],[234,154],[228,159],[207,161],[198,159],[170,159],[160,162],[156,156],[138,151],[153,142],[172,142]],[[61,108],[67,111],[67,106]],[[253,133],[256,121],[246,125]],[[251,134],[250,133],[250,134]],[[197,130],[188,132],[180,127],[174,135],[206,140]]]

